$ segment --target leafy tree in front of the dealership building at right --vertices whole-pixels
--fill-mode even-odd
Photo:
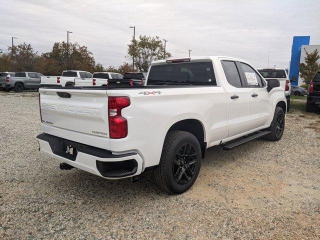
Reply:
[[[305,63],[299,64],[299,72],[300,77],[303,78],[303,82],[309,82],[314,74],[320,70],[320,63],[318,60],[320,59],[318,49],[315,49],[312,52],[307,52],[304,48],[306,56],[304,57]]]

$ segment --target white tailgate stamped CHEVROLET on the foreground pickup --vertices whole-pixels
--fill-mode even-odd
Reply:
[[[106,89],[40,88],[43,132],[109,148]]]

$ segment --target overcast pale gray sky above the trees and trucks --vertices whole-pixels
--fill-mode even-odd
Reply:
[[[103,66],[126,60],[126,44],[140,34],[167,39],[173,57],[226,55],[255,67],[288,67],[292,37],[320,44],[318,0],[0,0],[0,49],[31,43],[39,53],[54,42],[86,45]]]

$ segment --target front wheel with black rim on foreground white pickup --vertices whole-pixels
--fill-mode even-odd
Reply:
[[[281,107],[276,106],[274,110],[271,125],[265,130],[271,131],[265,136],[269,141],[278,141],[281,139],[284,131],[285,114]]]

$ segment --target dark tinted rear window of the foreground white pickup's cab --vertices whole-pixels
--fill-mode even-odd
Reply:
[[[152,65],[147,85],[216,85],[212,62]]]

